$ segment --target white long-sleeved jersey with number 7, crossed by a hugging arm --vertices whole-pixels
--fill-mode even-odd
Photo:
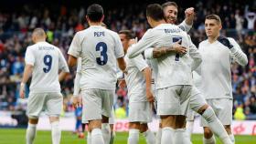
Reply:
[[[171,24],[161,24],[147,30],[143,38],[128,49],[127,56],[136,57],[149,47],[172,46],[180,39],[182,46],[187,47],[188,51],[194,48],[194,55],[197,55],[198,59],[201,58],[187,33]],[[192,85],[192,64],[189,53],[183,56],[169,54],[156,58],[155,63],[158,71],[155,83],[157,89],[176,85]]]

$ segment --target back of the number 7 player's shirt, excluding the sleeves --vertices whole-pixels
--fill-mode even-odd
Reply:
[[[154,47],[172,46],[181,40],[181,45],[189,51],[190,40],[187,33],[175,25],[162,24],[152,29],[155,34]],[[157,64],[156,88],[171,87],[176,85],[192,85],[191,58],[189,54],[180,56],[169,54],[155,60]]]

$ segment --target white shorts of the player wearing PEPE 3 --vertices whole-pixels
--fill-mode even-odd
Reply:
[[[114,90],[86,89],[81,91],[82,121],[111,117]]]

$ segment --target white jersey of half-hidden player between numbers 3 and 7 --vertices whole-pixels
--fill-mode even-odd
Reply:
[[[124,75],[128,88],[128,98],[130,102],[146,101],[145,78],[143,70],[148,67],[144,57],[139,55],[134,58],[124,57],[127,74]]]

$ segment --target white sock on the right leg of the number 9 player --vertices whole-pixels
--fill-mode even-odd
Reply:
[[[61,130],[59,128],[59,121],[51,123],[51,139],[52,144],[59,144],[61,137]]]

